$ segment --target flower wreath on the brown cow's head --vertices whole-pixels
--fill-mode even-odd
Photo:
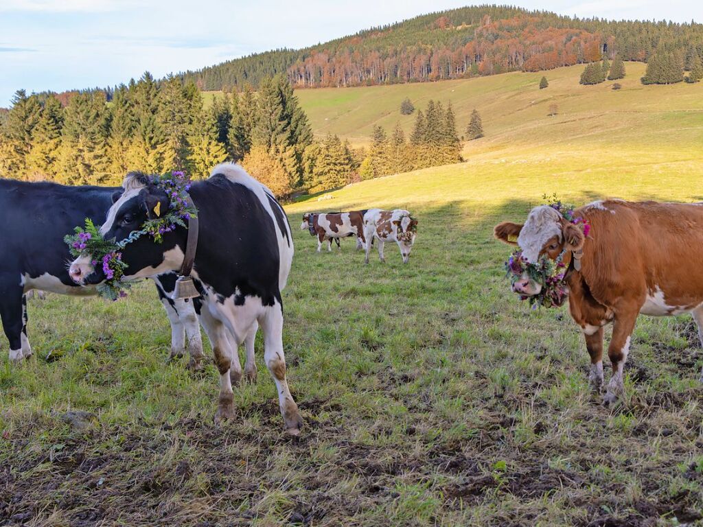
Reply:
[[[579,226],[583,231],[583,235],[588,237],[588,233],[591,232],[591,224],[588,223],[587,219],[574,215],[573,205],[562,203],[557,199],[557,195],[552,195],[551,197],[544,195],[543,198],[549,207],[555,209],[569,223]],[[533,309],[538,306],[559,307],[564,304],[564,301],[569,296],[569,287],[564,281],[566,276],[565,264],[562,261],[566,252],[567,249],[563,249],[555,260],[543,254],[536,263],[529,263],[522,256],[522,249],[517,249],[510,255],[508,261],[505,262],[506,276],[510,278],[510,285],[515,284],[523,273],[527,273],[531,280],[538,282],[542,286],[539,294],[522,295],[520,300],[529,300],[529,304]]]

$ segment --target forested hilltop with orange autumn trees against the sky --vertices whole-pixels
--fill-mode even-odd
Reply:
[[[550,70],[602,54],[647,60],[674,52],[688,67],[703,56],[697,23],[579,19],[508,6],[473,6],[420,15],[299,50],[278,50],[186,72],[200,89],[242,89],[288,75],[297,87],[431,82],[510,71]]]

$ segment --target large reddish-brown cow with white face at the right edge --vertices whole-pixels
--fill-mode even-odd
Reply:
[[[532,209],[524,224],[500,223],[494,233],[503,242],[517,241],[531,263],[543,254],[556,259],[566,249],[569,311],[586,337],[589,379],[599,390],[603,327],[613,325],[612,378],[604,396],[605,403],[613,403],[624,391],[623,367],[640,313],[691,313],[703,345],[703,204],[607,200],[576,209],[574,217],[579,216],[591,225],[587,238],[548,206]],[[541,285],[523,276],[513,289],[531,296]]]

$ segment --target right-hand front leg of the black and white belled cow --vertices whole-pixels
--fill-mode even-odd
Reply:
[[[280,302],[264,308],[259,317],[259,324],[264,330],[264,360],[271,372],[278,389],[278,404],[285,421],[288,434],[297,436],[303,421],[298,413],[298,406],[290,395],[288,382],[285,380],[285,356],[283,355],[283,308]]]

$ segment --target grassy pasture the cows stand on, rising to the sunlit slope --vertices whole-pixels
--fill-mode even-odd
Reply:
[[[550,88],[534,97],[579,72],[548,72]],[[512,100],[525,89],[498,86],[528,77],[445,84],[491,80],[491,93]],[[510,249],[491,237],[495,223],[524,218],[543,193],[574,203],[703,200],[700,87],[634,80],[620,92],[595,86],[600,107],[576,87],[557,117],[543,116],[543,103],[521,110],[534,118],[515,113],[512,126],[507,114],[486,117],[487,137],[465,148],[465,163],[287,207],[297,253],[283,295],[284,344],[306,422],[299,438],[283,434],[260,342],[259,382],[236,389],[238,418],[216,426],[217,372],[165,365],[168,325],[150,287],[115,303],[32,301],[37,358],[0,363],[0,524],[699,522],[703,353],[690,317],[638,320],[626,396],[604,408],[566,308],[530,311],[517,301],[503,275]],[[327,96],[305,92],[304,104],[318,92]],[[612,110],[621,107],[606,103],[611,96],[629,109]],[[323,110],[309,108],[321,131]],[[317,254],[298,228],[306,211],[372,206],[418,216],[407,266],[390,246],[386,264],[363,266],[349,240]],[[7,342],[0,346],[5,353]],[[47,362],[50,351],[63,355]],[[62,419],[68,410],[94,418],[77,429]]]

